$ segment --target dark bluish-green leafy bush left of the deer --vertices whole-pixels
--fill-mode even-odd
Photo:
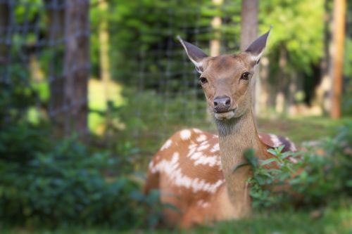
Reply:
[[[0,133],[0,220],[21,226],[140,226],[146,221],[137,183],[120,175],[106,178],[116,165],[106,153],[89,152],[76,138],[48,140],[29,124]]]

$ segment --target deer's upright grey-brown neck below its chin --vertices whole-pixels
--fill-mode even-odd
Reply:
[[[219,121],[215,119],[219,132],[222,173],[225,177],[227,193],[234,206],[236,216],[246,216],[251,212],[251,201],[246,180],[251,176],[250,167],[234,167],[244,162],[244,150],[254,148],[256,153],[263,149],[258,137],[252,110],[239,118]]]

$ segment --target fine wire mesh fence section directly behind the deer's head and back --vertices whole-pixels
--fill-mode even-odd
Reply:
[[[180,35],[208,54],[213,40],[221,44],[218,53],[237,51],[240,2],[168,1],[158,5],[155,1],[141,5],[136,6],[138,15],[115,12],[120,21],[111,24],[115,28],[109,27],[111,46],[121,47],[115,49],[119,53],[111,53],[111,67],[126,98],[125,107],[118,112],[125,124],[118,141],[132,139],[139,148],[153,152],[160,141],[184,127],[213,131],[199,74],[176,37]],[[214,27],[213,20],[219,15],[222,25]],[[121,31],[130,34],[121,35]]]

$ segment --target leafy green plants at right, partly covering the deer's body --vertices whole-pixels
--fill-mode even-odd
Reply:
[[[258,160],[253,150],[247,151],[246,161],[253,169],[248,181],[253,206],[262,209],[299,203],[315,207],[352,195],[351,129],[351,124],[344,126],[335,138],[304,152],[270,149],[274,157],[268,160]]]

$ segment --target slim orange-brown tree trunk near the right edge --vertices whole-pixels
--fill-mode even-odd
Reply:
[[[341,116],[342,66],[344,62],[344,39],[346,0],[334,0],[334,33],[332,48],[332,105],[330,116]]]

